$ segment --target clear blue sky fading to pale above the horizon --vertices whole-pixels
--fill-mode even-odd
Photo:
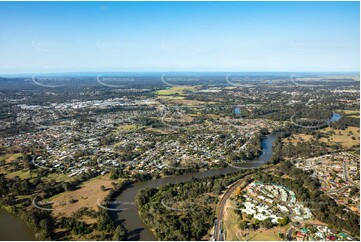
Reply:
[[[359,2],[0,2],[0,74],[360,68]]]

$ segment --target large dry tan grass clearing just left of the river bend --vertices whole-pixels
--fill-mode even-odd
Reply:
[[[109,177],[110,175],[98,176],[90,181],[87,181],[81,185],[81,187],[74,191],[68,191],[60,193],[49,199],[49,202],[53,203],[54,216],[70,217],[74,212],[80,208],[91,208],[98,210],[97,201],[99,203],[108,194],[109,189],[113,186],[112,182],[117,182]],[[105,190],[100,189],[101,186],[105,187]],[[75,201],[70,203],[69,201]]]

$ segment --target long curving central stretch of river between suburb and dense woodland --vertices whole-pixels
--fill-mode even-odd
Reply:
[[[272,144],[275,139],[276,137],[274,135],[267,135],[264,139],[262,139],[262,154],[252,163],[242,164],[242,167],[255,168],[267,163],[272,157]],[[116,212],[112,211],[111,216],[116,223],[124,223],[125,228],[130,234],[130,240],[156,240],[154,234],[146,227],[139,217],[138,208],[135,205],[135,197],[139,190],[148,187],[157,188],[169,183],[185,182],[191,180],[193,177],[210,177],[236,171],[239,171],[239,169],[228,166],[226,168],[212,169],[205,172],[188,173],[180,176],[165,177],[146,182],[134,183],[131,187],[124,190],[116,199],[119,203],[123,203],[123,205],[119,206],[119,209],[125,210]]]

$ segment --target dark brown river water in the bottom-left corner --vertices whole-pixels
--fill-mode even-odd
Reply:
[[[35,240],[33,231],[20,218],[0,208],[0,240]]]

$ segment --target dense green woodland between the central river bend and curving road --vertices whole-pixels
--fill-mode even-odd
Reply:
[[[218,195],[249,173],[193,178],[190,182],[141,190],[136,198],[140,216],[159,240],[209,239]]]

